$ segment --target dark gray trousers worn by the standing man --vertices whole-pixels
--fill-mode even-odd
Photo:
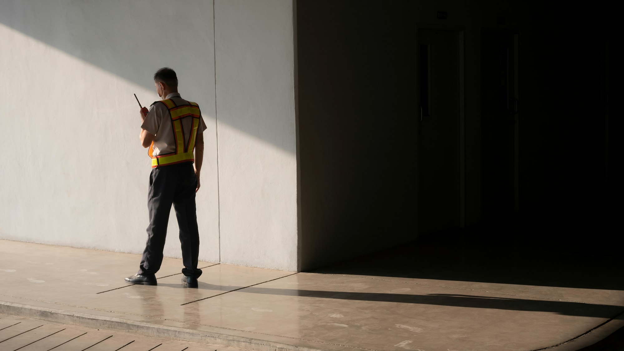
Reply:
[[[147,243],[141,259],[138,274],[153,275],[162,264],[162,250],[167,237],[167,224],[171,205],[180,227],[182,245],[182,273],[187,277],[199,277],[197,268],[199,255],[199,232],[195,209],[197,177],[192,162],[160,166],[152,169],[147,195],[150,225],[147,227]]]

